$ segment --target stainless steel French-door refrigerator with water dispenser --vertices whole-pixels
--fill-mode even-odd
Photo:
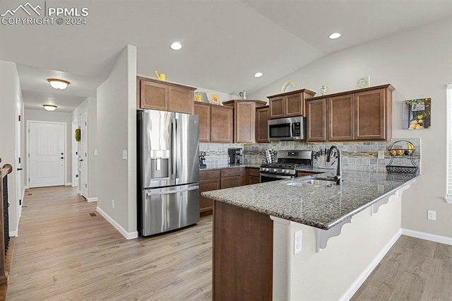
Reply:
[[[137,112],[138,232],[155,235],[199,221],[198,116]]]

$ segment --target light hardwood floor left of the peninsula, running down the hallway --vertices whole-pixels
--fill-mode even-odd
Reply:
[[[29,189],[7,300],[211,300],[212,218],[126,240],[72,187]]]

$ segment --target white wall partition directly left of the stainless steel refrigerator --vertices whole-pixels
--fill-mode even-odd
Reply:
[[[137,237],[134,46],[124,49],[107,80],[97,88],[97,146],[97,211],[124,237]],[[126,160],[123,151],[128,153]]]

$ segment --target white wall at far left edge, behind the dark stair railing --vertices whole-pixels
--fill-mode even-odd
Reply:
[[[23,191],[24,187],[23,181],[16,182],[17,169],[23,167],[16,160],[16,147],[21,147],[21,143],[16,143],[16,132],[11,130],[16,129],[16,118],[18,118],[16,107],[23,108],[17,66],[9,61],[0,61],[0,166],[3,167],[5,164],[13,166],[13,171],[8,175],[9,233],[11,236],[18,234],[20,206],[18,206],[17,200],[22,196],[18,196],[17,191]],[[23,119],[21,120],[23,122]],[[18,152],[22,153],[21,157],[24,160],[23,151]],[[16,185],[20,185],[19,189]]]

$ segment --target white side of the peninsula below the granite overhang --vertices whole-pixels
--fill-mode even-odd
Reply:
[[[275,220],[273,300],[349,300],[401,233],[401,197],[371,215],[371,207],[353,216],[340,235],[316,252],[316,228]],[[294,233],[302,230],[302,252],[294,255]]]

